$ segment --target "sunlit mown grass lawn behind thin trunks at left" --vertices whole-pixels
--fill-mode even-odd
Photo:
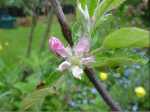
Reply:
[[[40,21],[36,27],[32,45],[32,50],[35,52],[39,50],[40,41],[46,28],[45,23],[44,21]],[[0,58],[6,64],[15,64],[18,62],[19,57],[25,56],[29,32],[30,27],[18,26],[14,29],[0,29],[0,45],[2,46]],[[58,23],[53,22],[50,35],[61,36]],[[7,43],[8,45],[5,45]],[[46,48],[48,49],[48,47]]]

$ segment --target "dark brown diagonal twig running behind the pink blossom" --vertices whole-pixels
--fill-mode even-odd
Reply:
[[[59,23],[61,24],[62,32],[64,34],[65,39],[68,41],[68,43],[71,46],[73,46],[71,30],[68,27],[64,13],[59,4],[59,1],[58,0],[50,0],[50,2],[52,4],[52,7],[55,10],[57,17],[58,17]],[[102,98],[104,99],[106,104],[110,107],[110,109],[112,111],[121,111],[121,108],[118,105],[116,105],[115,102],[113,102],[111,96],[108,94],[107,90],[103,87],[103,84],[97,80],[94,70],[92,68],[86,67],[84,69],[84,72],[86,73],[89,80],[93,83],[93,85],[97,89],[98,93],[102,96]]]

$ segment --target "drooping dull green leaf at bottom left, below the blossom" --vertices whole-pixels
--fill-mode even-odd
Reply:
[[[57,79],[55,79],[55,82],[51,84],[50,87],[42,88],[33,91],[28,96],[26,96],[22,101],[22,107],[21,110],[27,110],[29,108],[32,108],[35,110],[40,110],[40,107],[45,99],[45,97],[49,94],[56,93],[56,89],[61,87],[61,84],[64,82],[64,76],[61,76]]]

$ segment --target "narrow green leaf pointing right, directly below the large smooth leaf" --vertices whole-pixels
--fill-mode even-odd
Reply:
[[[146,64],[147,59],[130,49],[115,49],[97,52],[94,67],[115,67],[129,64]]]

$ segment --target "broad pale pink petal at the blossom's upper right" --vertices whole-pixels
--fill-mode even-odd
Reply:
[[[90,40],[87,37],[82,37],[74,48],[75,54],[87,53],[90,50]]]

